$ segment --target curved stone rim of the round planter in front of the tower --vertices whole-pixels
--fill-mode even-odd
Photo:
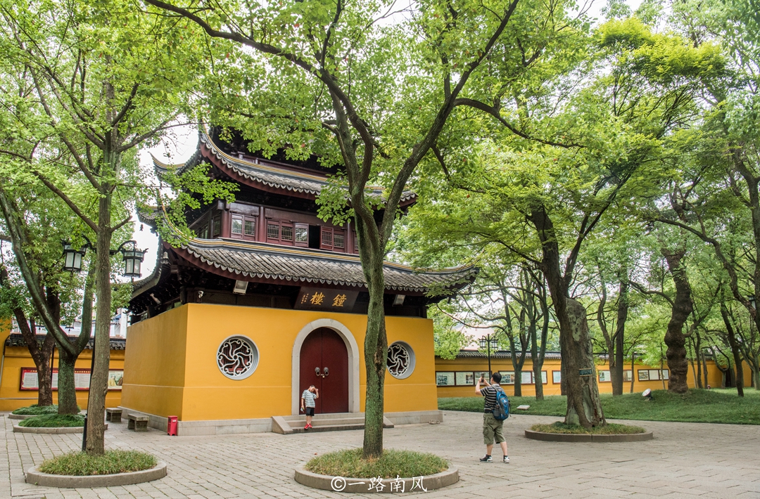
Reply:
[[[351,494],[401,494],[411,491],[432,491],[459,482],[459,470],[450,466],[446,471],[415,478],[344,478],[342,476],[318,475],[304,468],[296,469],[296,482],[323,491],[349,492]],[[403,485],[402,483],[403,482]]]

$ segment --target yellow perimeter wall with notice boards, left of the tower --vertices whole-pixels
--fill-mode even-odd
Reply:
[[[11,334],[10,321],[0,324],[0,345],[3,346],[2,379],[0,379],[0,411],[13,411],[19,407],[37,403],[37,392],[19,390],[21,387],[21,368],[34,368],[34,361],[25,346],[5,346],[5,340]],[[92,365],[92,350],[84,350],[77,359],[78,369],[89,369]],[[55,349],[53,367],[58,367],[58,349]],[[111,368],[124,368],[124,351],[111,350]],[[77,390],[77,403],[81,409],[87,408],[87,390]],[[58,403],[58,391],[52,393],[52,403]],[[109,390],[106,394],[106,407],[116,407],[122,404],[122,392]]]

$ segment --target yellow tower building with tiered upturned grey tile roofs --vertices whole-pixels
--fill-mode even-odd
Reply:
[[[319,219],[315,201],[337,167],[265,159],[215,131],[199,139],[186,163],[154,161],[157,174],[206,165],[239,191],[233,203],[187,213],[197,237],[178,248],[162,242],[154,273],[135,283],[122,406],[154,428],[176,415],[180,435],[289,433],[302,426],[300,396],[313,384],[315,428],[363,424],[369,294],[358,242],[353,223]],[[401,209],[415,201],[405,192]],[[156,216],[141,221],[155,227]],[[442,419],[426,309],[476,272],[385,264],[388,425]]]

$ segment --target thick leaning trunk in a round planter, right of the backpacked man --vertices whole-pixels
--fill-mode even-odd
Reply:
[[[606,424],[597,387],[586,309],[568,297],[569,277],[559,268],[559,245],[554,226],[543,207],[531,210],[530,220],[541,241],[541,270],[549,285],[559,323],[562,380],[567,387],[565,423],[591,428]]]

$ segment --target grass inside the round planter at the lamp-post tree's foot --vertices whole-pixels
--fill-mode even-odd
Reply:
[[[106,450],[103,456],[75,452],[46,460],[40,471],[52,475],[113,475],[150,469],[157,463],[154,456],[138,450]]]

